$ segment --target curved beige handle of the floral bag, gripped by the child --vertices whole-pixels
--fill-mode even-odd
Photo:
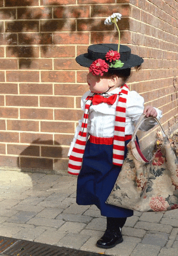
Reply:
[[[137,133],[139,127],[142,125],[142,123],[143,123],[147,118],[152,118],[152,119],[154,119],[154,120],[157,122],[157,124],[159,125],[160,129],[161,129],[161,132],[162,132],[163,137],[164,137],[164,138],[167,137],[167,136],[166,136],[166,133],[164,132],[164,130],[163,130],[163,128],[162,128],[162,126],[161,126],[161,124],[160,124],[160,122],[159,122],[159,120],[158,120],[156,117],[152,117],[152,116],[147,117],[145,114],[142,114],[142,115],[140,116],[139,120],[137,121],[136,127],[135,127],[135,129],[134,129],[133,135],[132,135],[132,139],[131,139],[131,149],[132,149],[132,153],[133,153],[134,157],[135,157],[137,160],[139,160],[140,162],[143,162],[143,163],[145,163],[145,162],[150,162],[152,159],[151,159],[150,161],[148,161],[148,160],[146,159],[147,161],[145,161],[145,160],[143,159],[144,156],[142,155],[142,157],[141,157],[140,153],[137,151],[137,148],[136,148],[136,145],[135,145],[135,140],[136,140],[136,133]],[[141,154],[142,154],[142,153],[141,153]],[[154,156],[153,156],[153,157],[154,157]],[[152,158],[153,158],[153,157],[152,157]]]

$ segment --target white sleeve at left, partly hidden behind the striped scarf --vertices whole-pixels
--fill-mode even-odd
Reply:
[[[85,99],[86,99],[86,97],[88,96],[90,94],[90,91],[87,91],[83,96],[82,96],[82,98],[81,98],[81,102],[80,102],[80,104],[81,104],[81,110],[85,110]],[[83,117],[83,114],[82,114],[82,117]],[[80,129],[81,129],[81,127],[82,127],[82,118],[79,120],[79,124],[78,124],[78,126],[76,127],[76,130],[75,130],[75,134],[74,134],[74,138],[73,138],[73,140],[72,140],[72,142],[71,142],[71,145],[70,145],[70,148],[69,148],[69,152],[68,152],[68,157],[70,157],[70,155],[71,155],[71,152],[72,152],[72,149],[73,149],[73,147],[74,147],[74,145],[75,145],[75,142],[76,142],[76,140],[77,140],[77,136],[78,136],[78,134],[79,134],[79,132],[80,132]],[[88,139],[88,138],[87,138]]]

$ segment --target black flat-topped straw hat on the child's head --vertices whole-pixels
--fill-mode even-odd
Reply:
[[[76,61],[83,67],[90,67],[93,61],[97,59],[105,60],[105,55],[109,50],[117,51],[117,44],[97,44],[88,47],[88,53],[81,54],[76,57]],[[131,48],[126,45],[120,45],[120,61],[124,63],[122,67],[111,69],[126,69],[139,66],[143,63],[143,59],[138,55],[131,54]]]

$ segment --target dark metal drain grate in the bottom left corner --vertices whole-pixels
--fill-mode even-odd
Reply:
[[[101,254],[0,236],[0,256],[101,256]]]

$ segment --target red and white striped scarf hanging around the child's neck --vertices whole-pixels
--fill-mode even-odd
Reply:
[[[115,130],[114,130],[114,142],[113,142],[113,164],[123,165],[124,150],[125,150],[125,111],[126,101],[128,94],[128,86],[125,84],[121,91],[120,97],[116,106],[115,117]],[[82,166],[83,154],[85,151],[85,145],[87,140],[87,123],[88,123],[88,110],[90,108],[93,92],[91,92],[86,98],[85,113],[82,120],[82,128],[78,134],[74,148],[69,157],[68,173],[78,175]]]

